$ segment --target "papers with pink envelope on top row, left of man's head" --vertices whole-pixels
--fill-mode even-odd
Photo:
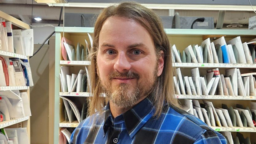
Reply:
[[[92,37],[89,33],[88,36],[92,45]],[[63,59],[69,61],[85,61],[91,49],[91,45],[88,44],[87,40],[85,40],[85,43],[86,47],[84,47],[84,45],[80,45],[80,43],[77,43],[75,50],[73,43],[67,38],[63,37],[61,39],[61,55]]]

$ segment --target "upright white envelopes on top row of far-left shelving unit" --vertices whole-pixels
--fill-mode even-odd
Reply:
[[[12,29],[12,22],[0,18],[0,51],[32,56],[34,51],[33,29]]]

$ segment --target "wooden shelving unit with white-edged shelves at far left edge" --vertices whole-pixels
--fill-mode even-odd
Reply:
[[[28,24],[24,23],[23,21],[20,21],[20,20],[16,19],[15,17],[12,17],[12,16],[10,16],[7,13],[4,13],[2,11],[0,11],[0,18],[5,19],[6,21],[11,21],[13,25],[17,26],[20,29],[30,29]],[[0,56],[2,56],[4,58],[27,59],[29,61],[28,56],[19,55],[19,54],[11,53],[11,52],[0,51]],[[27,86],[0,87],[0,91],[5,91],[5,90],[22,90],[22,92],[27,92],[28,100],[30,100],[29,87],[27,87]],[[19,119],[3,121],[3,122],[0,123],[0,128],[6,128],[6,127],[27,128],[28,137],[29,137],[29,141],[30,141],[30,117],[22,117],[22,118],[19,118]]]

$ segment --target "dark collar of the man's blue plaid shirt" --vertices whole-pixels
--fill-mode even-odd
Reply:
[[[153,116],[155,109],[153,108],[153,103],[146,97],[140,103],[136,104],[133,108],[129,109],[127,112],[115,118],[115,123],[117,121],[124,120],[127,132],[132,138],[147,121]],[[105,110],[105,121],[104,121],[104,135],[107,133],[108,127],[113,124],[113,116],[110,111],[109,103]]]

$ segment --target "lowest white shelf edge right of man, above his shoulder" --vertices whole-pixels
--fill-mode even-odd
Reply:
[[[241,128],[241,127],[211,127],[212,129],[214,129],[215,131],[219,131],[219,132],[256,132],[256,128],[250,128],[250,127],[246,127],[246,128]]]

